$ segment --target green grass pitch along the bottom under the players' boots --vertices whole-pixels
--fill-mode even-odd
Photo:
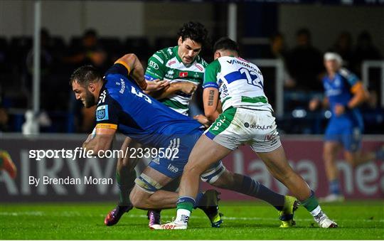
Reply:
[[[1,240],[378,240],[384,239],[384,202],[350,201],[322,205],[337,229],[320,229],[304,208],[297,226],[279,228],[277,212],[258,202],[222,202],[222,227],[212,228],[201,210],[193,211],[188,230],[149,230],[146,212],[131,210],[106,227],[113,203],[0,204]],[[175,210],[162,212],[171,220]]]

